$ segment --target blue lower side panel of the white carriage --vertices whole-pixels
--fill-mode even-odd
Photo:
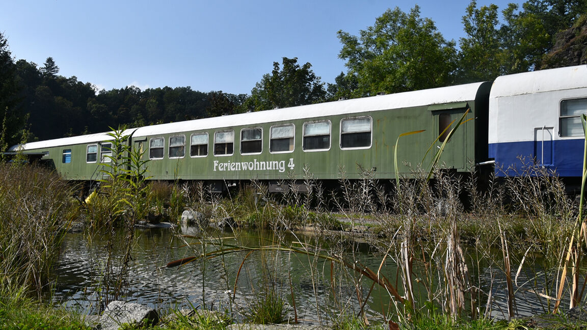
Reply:
[[[545,142],[545,161],[551,158],[552,162],[551,164],[544,164],[544,166],[548,169],[556,170],[556,173],[561,177],[581,177],[583,143],[584,140],[581,139]],[[546,150],[549,150],[551,154],[546,154]],[[538,154],[536,162],[534,161],[535,154]],[[539,159],[541,154],[541,142],[503,142],[489,145],[489,156],[495,159],[495,175],[498,177],[520,175],[524,165],[542,165]],[[521,159],[524,159],[525,163],[522,163]]]

